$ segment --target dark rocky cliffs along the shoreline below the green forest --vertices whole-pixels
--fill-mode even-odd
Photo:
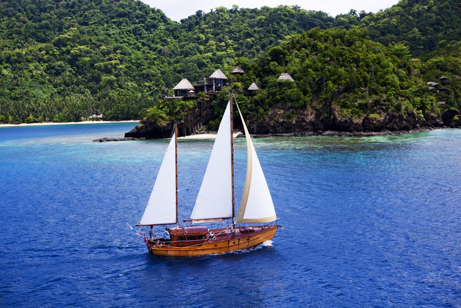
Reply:
[[[352,118],[350,115],[341,116],[335,107],[330,108],[327,114],[319,111],[305,111],[294,119],[283,119],[283,112],[272,110],[262,120],[248,119],[248,130],[251,134],[321,134],[324,131],[338,131],[354,134],[368,134],[379,132],[408,132],[422,128],[433,127],[461,127],[461,113],[455,109],[446,110],[442,119],[434,114],[426,113],[424,120],[419,119],[414,111],[405,113],[388,112],[386,114],[366,115],[361,118]],[[187,127],[186,127],[187,126]],[[190,126],[190,127],[189,127]],[[202,123],[178,125],[178,136],[187,136],[194,133]],[[149,119],[144,119],[125,137],[161,139],[169,138],[173,124],[160,126]]]

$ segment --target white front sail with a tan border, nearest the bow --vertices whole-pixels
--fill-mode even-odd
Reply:
[[[274,221],[274,203],[270,196],[264,173],[259,164],[258,155],[250,138],[250,133],[243,120],[242,113],[238,108],[238,113],[242,119],[243,129],[247,140],[247,173],[245,185],[243,187],[242,199],[237,214],[237,223],[262,223]]]

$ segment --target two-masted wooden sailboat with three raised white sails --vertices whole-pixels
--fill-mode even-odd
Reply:
[[[274,204],[236,102],[245,131],[248,154],[245,185],[235,216],[232,101],[231,91],[191,218],[184,220],[191,223],[188,226],[179,226],[178,223],[177,128],[174,127],[147,207],[137,226],[175,226],[166,228],[170,239],[151,240],[141,233],[150,254],[183,257],[224,253],[257,246],[271,240],[275,235],[278,225],[275,224],[277,217]],[[231,220],[227,227],[224,223],[223,227],[215,229],[196,225],[225,220]],[[269,222],[272,224],[267,224]]]

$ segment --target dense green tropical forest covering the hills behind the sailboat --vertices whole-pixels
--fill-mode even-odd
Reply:
[[[229,86],[256,125],[299,116],[339,120],[386,113],[440,117],[461,105],[461,4],[402,0],[377,13],[336,17],[299,6],[217,7],[170,20],[134,0],[0,2],[0,122],[69,122],[149,117],[166,123],[225,92],[196,101],[162,99],[181,78],[216,69],[246,74]],[[289,73],[294,82],[279,82]],[[431,92],[427,82],[450,83]],[[443,101],[443,104],[439,102]],[[316,119],[317,119],[316,118]],[[210,128],[216,120],[209,118]]]

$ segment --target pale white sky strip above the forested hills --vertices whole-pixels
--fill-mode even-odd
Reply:
[[[161,9],[165,15],[175,21],[180,21],[196,11],[202,10],[208,13],[210,9],[218,6],[231,8],[233,4],[240,8],[260,8],[261,6],[276,7],[278,5],[299,5],[301,8],[311,11],[323,11],[335,17],[339,14],[345,14],[354,9],[357,12],[361,10],[368,12],[377,12],[380,9],[386,9],[399,0],[141,0],[150,7]]]

